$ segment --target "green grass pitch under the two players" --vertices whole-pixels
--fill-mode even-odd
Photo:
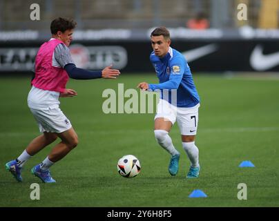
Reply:
[[[118,79],[77,81],[68,88],[77,97],[61,98],[79,145],[52,166],[56,184],[43,184],[30,173],[51,146],[32,157],[18,183],[5,164],[15,159],[39,130],[27,106],[28,77],[0,79],[0,206],[279,206],[279,81],[258,77],[194,75],[201,97],[196,145],[200,177],[187,180],[189,160],[182,149],[177,125],[171,137],[180,151],[180,169],[168,172],[170,156],[153,135],[154,114],[104,114],[102,93],[135,88],[141,81],[157,82],[155,74],[122,73]],[[57,141],[58,142],[58,141]],[[140,175],[121,177],[116,164],[136,155]],[[239,168],[250,160],[255,168]],[[39,183],[40,200],[30,200],[30,184]],[[247,184],[247,200],[238,200],[238,184]],[[201,189],[207,198],[189,198]]]

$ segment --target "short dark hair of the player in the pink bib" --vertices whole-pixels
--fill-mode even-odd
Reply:
[[[66,30],[73,29],[77,26],[77,22],[68,18],[54,19],[50,24],[50,31],[52,35],[57,34],[58,31],[65,32]]]

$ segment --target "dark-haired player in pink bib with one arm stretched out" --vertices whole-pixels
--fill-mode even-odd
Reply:
[[[77,133],[70,120],[59,108],[59,97],[74,97],[77,92],[66,88],[67,81],[73,79],[115,79],[119,70],[108,66],[103,70],[85,70],[77,68],[70,56],[70,42],[77,23],[73,19],[57,18],[52,21],[52,37],[39,48],[35,59],[35,76],[28,94],[28,107],[34,115],[39,131],[43,133],[28,144],[26,149],[15,160],[6,164],[18,182],[22,182],[23,165],[36,153],[55,142],[56,144],[46,159],[34,166],[31,172],[42,182],[55,182],[50,175],[50,166],[61,160],[78,144]]]

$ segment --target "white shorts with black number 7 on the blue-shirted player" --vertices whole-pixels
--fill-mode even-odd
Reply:
[[[196,135],[198,130],[200,104],[191,108],[180,108],[169,104],[164,99],[160,99],[157,104],[157,113],[155,118],[163,117],[168,119],[172,124],[177,121],[181,135]]]

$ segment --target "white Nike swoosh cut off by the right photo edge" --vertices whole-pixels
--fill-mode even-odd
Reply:
[[[268,70],[279,65],[279,52],[269,55],[262,53],[263,47],[258,45],[254,48],[250,57],[250,65],[255,70]]]

